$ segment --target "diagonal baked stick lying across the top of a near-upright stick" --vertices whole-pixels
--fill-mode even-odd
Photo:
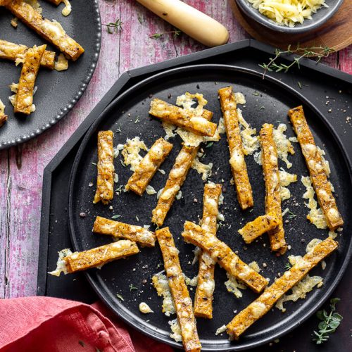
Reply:
[[[240,279],[244,284],[259,293],[268,284],[267,279],[244,263],[227,244],[220,241],[214,234],[204,231],[193,222],[184,222],[182,237],[185,241],[207,251],[230,275]]]

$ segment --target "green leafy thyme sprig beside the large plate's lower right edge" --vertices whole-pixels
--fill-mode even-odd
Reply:
[[[335,313],[336,303],[340,301],[340,298],[332,298],[330,300],[330,313],[327,314],[326,310],[319,310],[317,318],[321,320],[318,325],[319,332],[314,332],[315,338],[313,341],[317,345],[323,344],[329,339],[329,334],[336,331],[337,327],[341,324],[342,316],[339,313]]]

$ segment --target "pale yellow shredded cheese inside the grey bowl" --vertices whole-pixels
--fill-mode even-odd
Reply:
[[[322,6],[329,7],[325,0],[247,0],[260,13],[278,25],[294,27],[296,23],[312,19],[313,13]]]

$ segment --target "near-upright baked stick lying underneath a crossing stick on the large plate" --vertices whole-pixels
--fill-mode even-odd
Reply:
[[[221,184],[207,183],[203,195],[203,219],[201,227],[204,231],[216,235],[218,219],[218,202],[221,195]],[[215,260],[207,252],[199,254],[198,284],[194,298],[194,315],[201,318],[213,318],[213,292]]]

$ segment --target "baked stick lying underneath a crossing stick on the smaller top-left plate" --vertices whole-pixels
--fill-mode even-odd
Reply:
[[[0,39],[0,58],[6,60],[16,61],[16,59],[22,60],[25,58],[25,53],[28,47],[22,44],[15,44],[6,42],[6,40]],[[42,58],[40,59],[40,65],[54,70],[55,68],[55,53],[54,51],[44,51]]]

